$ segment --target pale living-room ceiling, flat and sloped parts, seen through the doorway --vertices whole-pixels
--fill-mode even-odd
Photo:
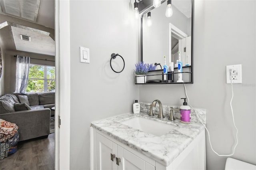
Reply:
[[[0,0],[0,13],[54,29],[54,0]],[[20,23],[20,22],[19,22]],[[0,24],[0,36],[10,32],[14,45],[19,51],[55,55],[54,37],[45,31],[22,26],[12,22]],[[20,35],[31,37],[31,42],[21,40]]]

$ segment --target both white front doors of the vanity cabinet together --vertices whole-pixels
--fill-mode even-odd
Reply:
[[[96,132],[96,170],[155,170],[155,167]]]

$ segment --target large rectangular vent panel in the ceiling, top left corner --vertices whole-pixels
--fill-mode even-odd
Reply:
[[[0,0],[2,12],[10,16],[37,21],[41,0]]]

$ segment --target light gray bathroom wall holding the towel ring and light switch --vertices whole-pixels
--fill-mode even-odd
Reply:
[[[90,49],[89,64],[80,63],[80,46]],[[124,57],[122,73],[111,70],[111,53]],[[133,75],[138,62],[133,1],[70,1],[70,57],[70,169],[85,170],[90,168],[90,123],[132,112],[139,97]],[[113,64],[122,67],[118,57]]]

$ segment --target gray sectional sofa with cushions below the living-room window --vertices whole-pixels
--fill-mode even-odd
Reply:
[[[19,141],[48,136],[54,116],[55,93],[13,93],[0,97],[0,119],[16,123]]]

